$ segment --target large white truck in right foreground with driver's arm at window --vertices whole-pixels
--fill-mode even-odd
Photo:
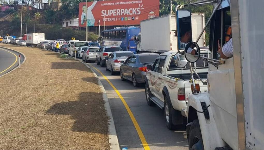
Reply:
[[[259,20],[263,4],[263,1],[217,1],[209,19],[211,55],[202,57],[198,50],[198,54],[191,56],[187,52],[189,47],[185,47],[184,55],[189,62],[202,59],[210,63],[208,92],[194,92],[188,98],[189,149],[263,149],[264,71],[260,40],[264,34],[263,21]],[[232,55],[225,55],[224,49],[232,51]]]

